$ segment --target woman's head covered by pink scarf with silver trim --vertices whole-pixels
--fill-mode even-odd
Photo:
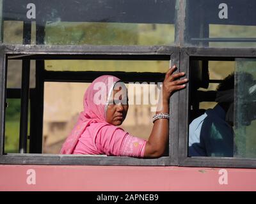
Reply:
[[[103,75],[96,78],[84,94],[86,118],[119,126],[124,122],[127,110],[127,89],[117,77]]]

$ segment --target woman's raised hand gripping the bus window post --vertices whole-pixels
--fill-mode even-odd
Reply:
[[[184,77],[185,73],[174,73],[176,69],[177,67],[174,65],[165,74],[163,82],[163,100],[165,101],[169,100],[173,92],[184,89],[184,87],[186,87],[186,83],[188,82],[187,78],[178,80],[180,77]]]

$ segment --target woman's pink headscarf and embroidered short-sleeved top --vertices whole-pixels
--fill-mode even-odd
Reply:
[[[119,78],[104,75],[96,78],[88,87],[84,94],[84,111],[80,113],[76,126],[63,143],[60,154],[144,156],[146,140],[131,136],[124,129],[106,122],[109,98],[118,81]],[[103,96],[100,98],[102,103],[96,97],[100,91],[103,93],[100,95]]]

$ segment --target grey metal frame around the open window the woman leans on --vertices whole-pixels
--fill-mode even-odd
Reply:
[[[121,165],[121,166],[173,166],[177,165],[178,156],[178,117],[179,110],[177,107],[178,93],[173,94],[170,99],[170,110],[173,117],[170,119],[169,134],[169,156],[157,159],[138,159],[132,157],[117,156],[78,156],[78,155],[60,155],[60,154],[4,154],[4,101],[6,98],[6,61],[8,56],[12,55],[15,59],[31,59],[42,61],[42,59],[127,59],[127,60],[172,60],[172,64],[179,64],[180,52],[177,47],[168,46],[49,46],[49,45],[0,45],[0,88],[2,91],[1,98],[1,138],[0,138],[0,164],[51,164],[51,165]],[[65,73],[65,71],[64,71]],[[86,73],[86,72],[84,72]],[[92,72],[91,72],[92,73]],[[98,72],[98,75],[104,73]],[[120,72],[120,77],[128,75],[134,78],[134,73]],[[137,76],[136,76],[137,75]],[[135,78],[143,76],[143,73],[137,73]],[[150,75],[150,74],[149,74]],[[48,75],[49,76],[49,75]],[[95,76],[95,75],[94,75]],[[118,76],[119,77],[119,76]],[[71,76],[72,80],[76,75]],[[92,75],[85,78],[85,81],[92,78]],[[49,81],[47,78],[45,81]],[[60,78],[54,80],[60,81]],[[126,77],[125,80],[129,80]],[[125,81],[124,80],[124,81]],[[52,81],[52,80],[51,80]],[[67,78],[65,79],[67,81]],[[81,81],[81,79],[80,79]],[[92,80],[91,80],[92,81]],[[174,117],[175,116],[175,117]]]

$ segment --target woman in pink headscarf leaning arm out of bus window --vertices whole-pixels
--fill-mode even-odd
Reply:
[[[186,87],[185,73],[170,68],[164,77],[161,108],[154,116],[148,141],[118,128],[127,111],[127,89],[120,79],[104,75],[96,78],[84,94],[84,111],[63,144],[61,154],[107,154],[155,158],[164,154],[169,132],[169,99],[173,92]],[[123,85],[122,85],[123,84]],[[117,86],[119,85],[119,86]]]

